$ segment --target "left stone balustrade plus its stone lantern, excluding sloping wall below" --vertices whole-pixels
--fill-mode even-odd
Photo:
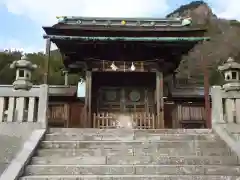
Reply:
[[[37,68],[26,56],[14,61],[11,68],[16,69],[16,79],[12,88],[1,86],[0,122],[38,123],[47,125],[48,86],[34,86],[31,73]]]

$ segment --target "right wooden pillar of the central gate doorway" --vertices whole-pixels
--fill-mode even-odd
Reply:
[[[156,128],[164,128],[163,73],[159,71],[156,72],[156,104],[157,104]]]

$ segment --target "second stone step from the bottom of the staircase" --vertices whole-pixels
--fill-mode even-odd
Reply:
[[[225,175],[240,176],[240,166],[219,165],[30,165],[25,175]]]

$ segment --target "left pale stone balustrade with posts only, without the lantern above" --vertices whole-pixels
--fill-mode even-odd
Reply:
[[[47,125],[48,86],[43,84],[30,90],[0,88],[0,122],[38,123]]]

